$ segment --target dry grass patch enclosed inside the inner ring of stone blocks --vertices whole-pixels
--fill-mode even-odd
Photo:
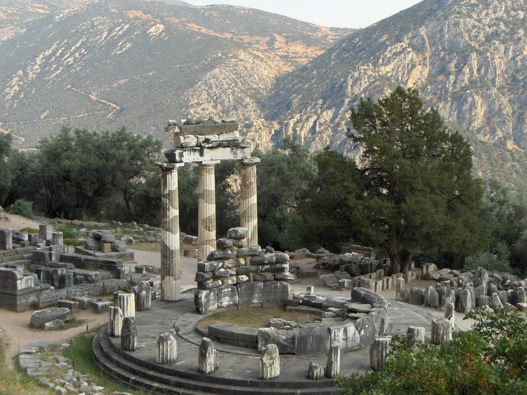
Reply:
[[[271,318],[281,318],[282,320],[305,324],[306,321],[314,321],[315,314],[288,312],[280,307],[256,307],[214,313],[199,320],[197,325],[229,322],[240,327],[264,328],[269,326]]]

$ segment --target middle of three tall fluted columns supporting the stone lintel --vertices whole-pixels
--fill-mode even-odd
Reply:
[[[204,261],[216,250],[216,181],[214,166],[220,161],[198,163],[198,259]]]

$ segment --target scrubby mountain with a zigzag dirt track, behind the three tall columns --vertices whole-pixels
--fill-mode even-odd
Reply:
[[[276,78],[350,30],[177,0],[4,0],[0,32],[0,129],[30,148],[64,124],[159,133],[189,114],[260,133]]]

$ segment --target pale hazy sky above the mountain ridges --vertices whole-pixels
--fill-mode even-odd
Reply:
[[[187,0],[193,5],[230,4],[258,8],[330,27],[366,27],[421,0]]]

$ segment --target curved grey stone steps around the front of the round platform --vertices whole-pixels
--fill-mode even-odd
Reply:
[[[340,392],[334,382],[328,380],[309,382],[237,380],[218,376],[204,376],[198,373],[158,366],[134,358],[116,347],[103,328],[97,333],[92,344],[92,356],[103,371],[113,378],[135,388],[147,388],[155,393],[204,395],[333,395]]]

